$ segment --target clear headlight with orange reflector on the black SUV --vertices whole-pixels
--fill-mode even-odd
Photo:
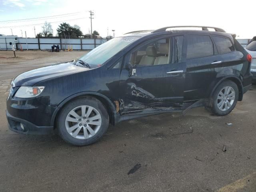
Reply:
[[[31,98],[36,97],[42,93],[44,86],[39,87],[25,87],[21,86],[16,92],[15,96],[18,98]]]

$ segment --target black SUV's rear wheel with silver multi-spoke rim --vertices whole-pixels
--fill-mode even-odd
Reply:
[[[226,94],[226,90],[228,94]],[[220,93],[221,91],[222,94]],[[227,115],[235,108],[238,95],[239,91],[236,83],[231,80],[225,80],[224,82],[220,83],[214,90],[212,98],[210,98],[210,107],[208,109],[210,109],[213,114],[218,116]],[[222,101],[224,102],[223,106]]]

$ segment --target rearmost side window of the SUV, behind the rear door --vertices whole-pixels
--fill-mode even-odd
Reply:
[[[229,53],[235,50],[234,45],[228,38],[213,36],[212,39],[219,54]]]

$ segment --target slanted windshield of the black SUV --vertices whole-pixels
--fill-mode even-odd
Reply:
[[[94,48],[88,54],[79,58],[91,68],[101,66],[112,56],[120,52],[123,48],[137,40],[138,37],[117,37],[106,43]]]

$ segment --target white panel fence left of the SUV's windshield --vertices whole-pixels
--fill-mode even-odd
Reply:
[[[17,40],[18,43],[15,43]],[[92,50],[103,44],[108,39],[61,39],[61,38],[0,38],[0,50],[11,50],[12,45],[19,50],[22,49],[52,49],[52,45],[59,45],[60,49],[65,50],[72,48],[73,50]]]

